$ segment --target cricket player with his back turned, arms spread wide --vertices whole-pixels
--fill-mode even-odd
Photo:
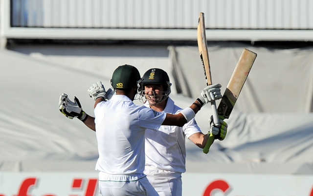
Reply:
[[[116,95],[110,100],[101,82],[90,87],[89,95],[95,99],[94,127],[90,121],[92,118],[82,110],[77,98],[72,102],[66,94],[60,97],[59,108],[64,115],[87,121],[90,123],[87,126],[96,131],[99,158],[95,169],[99,171],[102,196],[158,195],[143,174],[145,130],[158,131],[161,125],[183,126],[204,104],[222,98],[221,85],[211,85],[201,91],[194,104],[176,115],[156,112],[134,104],[139,80],[140,74],[134,66],[122,65],[112,75]]]

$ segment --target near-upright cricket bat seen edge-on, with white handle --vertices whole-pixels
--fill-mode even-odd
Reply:
[[[212,78],[211,78],[209,54],[207,51],[207,41],[206,41],[206,35],[205,35],[204,13],[202,12],[200,12],[199,20],[198,20],[198,48],[200,52],[200,58],[202,61],[206,85],[209,86],[209,85],[212,85]],[[211,102],[211,107],[212,107],[212,112],[213,112],[214,124],[219,126],[220,120],[218,117],[215,101]]]

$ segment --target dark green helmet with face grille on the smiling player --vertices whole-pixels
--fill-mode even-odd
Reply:
[[[167,73],[158,68],[152,68],[146,71],[144,73],[143,77],[141,78],[139,82],[139,93],[141,97],[144,97],[145,95],[145,86],[147,84],[161,84],[163,85],[164,89],[164,95],[163,98],[156,101],[155,104],[160,103],[168,98],[168,96],[171,94],[171,83],[170,83],[170,78],[168,77]]]

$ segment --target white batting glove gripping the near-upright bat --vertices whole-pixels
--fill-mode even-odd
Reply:
[[[221,84],[212,84],[202,89],[201,95],[197,99],[200,102],[201,107],[206,103],[222,98],[221,87]]]

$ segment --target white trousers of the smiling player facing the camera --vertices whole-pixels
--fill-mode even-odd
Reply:
[[[181,196],[181,173],[146,166],[143,172],[159,196]]]

